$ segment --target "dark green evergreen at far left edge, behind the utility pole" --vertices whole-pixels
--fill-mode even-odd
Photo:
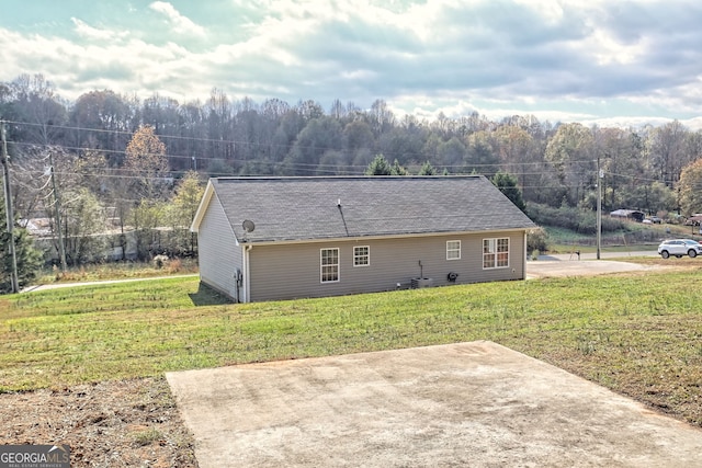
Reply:
[[[0,194],[0,294],[12,293],[12,256],[10,255],[10,233],[5,222],[4,197]],[[34,248],[34,241],[26,229],[15,222],[14,252],[18,260],[18,283],[20,288],[29,285],[42,266],[42,252]]]

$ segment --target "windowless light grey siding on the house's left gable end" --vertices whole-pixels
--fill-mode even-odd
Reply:
[[[206,285],[236,298],[234,272],[242,267],[241,247],[216,195],[207,207],[197,232],[200,278]]]

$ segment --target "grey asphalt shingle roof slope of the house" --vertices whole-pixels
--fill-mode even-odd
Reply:
[[[238,240],[294,241],[532,228],[490,181],[465,176],[211,180]],[[245,233],[244,220],[256,225]]]

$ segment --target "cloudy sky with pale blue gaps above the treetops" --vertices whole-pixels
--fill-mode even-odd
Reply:
[[[2,0],[0,81],[702,127],[699,0]]]

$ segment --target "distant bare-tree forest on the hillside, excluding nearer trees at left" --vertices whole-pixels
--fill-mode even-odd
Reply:
[[[155,94],[144,101],[110,90],[61,100],[42,76],[0,83],[0,115],[11,122],[13,152],[60,148],[78,158],[99,153],[106,171],[124,167],[126,146],[151,126],[167,148],[173,175],[362,174],[377,155],[418,173],[499,170],[518,178],[525,201],[553,206],[591,204],[597,161],[604,172],[607,208],[677,209],[682,169],[702,150],[702,133],[675,121],[659,127],[601,128],[552,124],[531,115],[499,122],[472,113],[433,121],[394,115],[383,100],[361,110],[337,100],[233,100],[214,89],[206,102],[179,103]],[[673,191],[673,203],[660,198]],[[668,194],[670,195],[670,194]]]

